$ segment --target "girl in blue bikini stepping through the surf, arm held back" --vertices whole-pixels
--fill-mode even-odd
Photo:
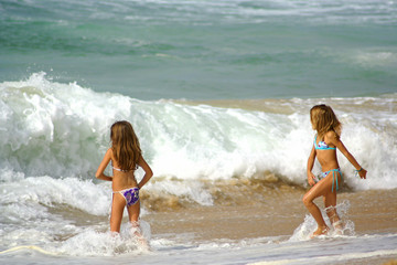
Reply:
[[[330,218],[332,225],[335,229],[341,229],[341,222],[335,210],[336,191],[342,183],[342,172],[337,163],[336,148],[356,168],[360,178],[365,179],[367,171],[358,165],[341,141],[342,125],[330,106],[316,105],[312,107],[310,109],[310,120],[318,134],[314,137],[314,145],[308,160],[308,182],[312,188],[304,194],[303,203],[318,223],[318,229],[312,234],[312,236],[316,236],[326,234],[329,231],[320,209],[313,203],[313,200],[321,195],[324,200],[326,215]],[[322,169],[318,182],[312,173],[315,157]]]

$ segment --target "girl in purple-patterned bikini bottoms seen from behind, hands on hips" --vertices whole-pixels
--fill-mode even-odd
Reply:
[[[95,174],[97,179],[111,181],[110,231],[120,232],[122,213],[127,205],[129,221],[132,227],[137,229],[136,235],[142,237],[138,223],[140,213],[139,190],[149,181],[153,173],[142,157],[138,137],[130,123],[115,123],[110,128],[110,140],[111,148],[105,153]],[[110,160],[112,178],[104,174]],[[139,183],[133,174],[138,166],[144,171],[144,176]]]

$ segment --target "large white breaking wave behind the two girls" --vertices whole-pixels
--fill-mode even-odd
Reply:
[[[340,155],[348,187],[397,187],[393,178],[397,150],[390,148],[396,146],[397,135],[394,94],[247,100],[239,105],[142,102],[96,93],[76,83],[56,83],[45,73],[1,83],[0,91],[0,166],[28,177],[92,179],[109,147],[110,125],[127,119],[136,128],[154,179],[253,179],[269,171],[286,183],[305,187],[305,165],[314,136],[309,109],[322,102],[334,107],[344,124],[344,144],[368,170],[366,181],[355,178],[353,167]],[[320,171],[318,165],[315,170]],[[142,171],[137,174],[140,178]],[[178,190],[168,186],[161,189],[174,194]],[[191,191],[190,197],[203,204],[212,203],[204,193]]]

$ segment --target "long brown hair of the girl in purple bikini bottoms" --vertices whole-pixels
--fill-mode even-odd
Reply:
[[[121,170],[133,170],[142,156],[139,140],[130,123],[116,121],[110,127],[111,150]]]

